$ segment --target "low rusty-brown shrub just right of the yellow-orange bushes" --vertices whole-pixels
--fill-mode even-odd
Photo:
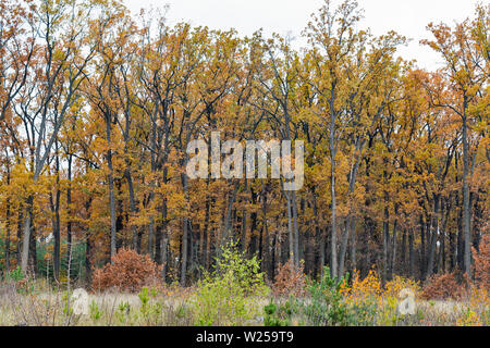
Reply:
[[[461,272],[434,274],[424,285],[420,297],[426,300],[461,300],[468,294],[469,282]]]

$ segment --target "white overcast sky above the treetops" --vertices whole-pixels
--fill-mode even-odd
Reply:
[[[489,0],[480,0],[488,3]],[[252,35],[264,28],[265,35],[275,32],[297,37],[297,45],[304,45],[301,32],[310,14],[318,10],[323,0],[124,0],[133,13],[144,7],[170,5],[169,24],[188,22],[210,28],[234,27],[241,35]],[[340,3],[341,0],[335,0]],[[375,35],[390,29],[408,38],[412,42],[399,50],[404,59],[416,59],[420,67],[434,70],[440,59],[419,40],[431,38],[426,30],[430,22],[453,24],[473,17],[478,0],[358,0],[365,10],[362,27],[370,27]]]

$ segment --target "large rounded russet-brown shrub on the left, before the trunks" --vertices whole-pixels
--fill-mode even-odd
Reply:
[[[94,271],[91,286],[96,291],[117,288],[137,293],[143,286],[156,285],[160,270],[149,256],[123,248],[112,257],[112,263]]]

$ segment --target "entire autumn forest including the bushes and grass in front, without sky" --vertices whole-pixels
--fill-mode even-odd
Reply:
[[[427,23],[434,71],[362,18],[0,0],[0,325],[489,325],[490,4]],[[303,140],[303,187],[189,179],[211,132]]]

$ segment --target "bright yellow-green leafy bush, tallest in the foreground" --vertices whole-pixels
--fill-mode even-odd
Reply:
[[[204,273],[193,299],[196,325],[241,325],[260,313],[257,297],[266,297],[264,273],[256,257],[246,259],[236,243],[222,248],[213,271]]]

